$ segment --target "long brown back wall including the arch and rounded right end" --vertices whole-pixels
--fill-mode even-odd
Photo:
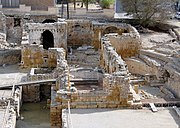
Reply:
[[[93,45],[96,49],[100,48],[101,37],[109,33],[129,33],[131,40],[127,42],[137,42],[139,33],[135,28],[128,24],[106,23],[90,20],[66,20],[68,46]],[[128,36],[126,36],[126,39]],[[124,39],[124,40],[126,40]],[[128,38],[129,39],[129,38]],[[134,39],[134,40],[133,40]]]

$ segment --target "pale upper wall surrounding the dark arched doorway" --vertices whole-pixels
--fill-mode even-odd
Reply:
[[[42,33],[45,30],[49,30],[54,37],[54,47],[67,48],[67,31],[65,22],[56,23],[29,23],[27,25],[27,31],[29,34],[29,43],[36,43],[38,45],[42,44]]]

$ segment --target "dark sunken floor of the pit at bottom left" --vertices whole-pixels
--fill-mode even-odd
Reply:
[[[45,103],[24,103],[16,128],[50,128],[50,110]]]

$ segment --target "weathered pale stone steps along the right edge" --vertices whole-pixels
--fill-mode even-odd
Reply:
[[[141,50],[139,59],[148,66],[156,68],[158,72],[159,81],[152,81],[151,86],[164,86],[175,96],[180,97],[180,57],[178,52],[172,50],[171,53],[166,54],[159,50]]]

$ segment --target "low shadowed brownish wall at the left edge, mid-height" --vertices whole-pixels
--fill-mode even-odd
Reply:
[[[17,64],[21,60],[20,49],[6,49],[0,50],[0,65],[3,64]]]

